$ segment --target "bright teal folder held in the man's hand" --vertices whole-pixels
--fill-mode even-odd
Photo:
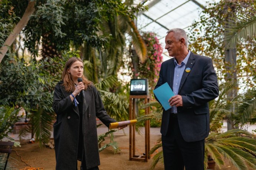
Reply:
[[[168,110],[172,107],[170,106],[168,100],[172,96],[174,96],[174,93],[167,82],[157,87],[157,89],[154,89],[153,93],[154,95],[156,95],[158,101],[163,106],[164,110]]]

